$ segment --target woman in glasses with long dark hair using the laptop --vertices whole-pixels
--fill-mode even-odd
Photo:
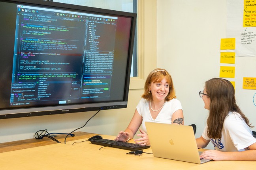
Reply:
[[[230,81],[213,78],[205,82],[199,92],[205,109],[209,110],[207,126],[198,148],[205,148],[211,141],[215,150],[207,150],[200,158],[220,160],[256,161],[256,139],[251,124],[235,101],[235,90]]]

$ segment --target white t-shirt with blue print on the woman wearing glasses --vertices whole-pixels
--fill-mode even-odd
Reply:
[[[207,126],[203,131],[202,137],[206,140],[211,140],[215,150],[222,152],[245,151],[248,146],[256,142],[256,139],[252,136],[252,130],[241,115],[236,112],[230,112],[226,116],[221,139],[210,139],[207,136]]]

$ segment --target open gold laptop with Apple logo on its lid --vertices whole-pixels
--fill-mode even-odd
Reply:
[[[192,126],[145,122],[151,149],[155,157],[205,163],[200,159]]]

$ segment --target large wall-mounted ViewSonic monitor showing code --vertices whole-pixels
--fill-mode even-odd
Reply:
[[[127,107],[136,13],[0,0],[0,119]]]

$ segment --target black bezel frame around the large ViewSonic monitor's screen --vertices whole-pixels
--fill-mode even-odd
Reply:
[[[110,101],[110,102],[97,102],[97,103],[84,103],[84,104],[73,104],[73,105],[56,105],[56,106],[45,106],[45,107],[29,107],[22,109],[2,109],[0,110],[0,119],[6,118],[19,118],[19,117],[30,117],[30,116],[43,116],[43,115],[56,115],[64,113],[77,113],[86,111],[98,111],[98,110],[108,110],[108,109],[119,109],[126,108],[128,104],[128,93],[130,84],[130,74],[132,65],[132,52],[134,46],[134,37],[136,30],[136,13],[128,13],[124,11],[115,11],[109,9],[101,9],[95,7],[78,6],[73,4],[64,4],[59,2],[51,2],[44,0],[0,0],[0,2],[17,3],[22,5],[34,5],[40,7],[54,7],[55,9],[61,10],[72,10],[78,12],[89,12],[97,13],[101,15],[113,15],[120,17],[130,17],[131,31],[130,31],[130,41],[128,47],[128,58],[126,66],[126,76],[125,76],[125,87],[124,87],[124,97],[123,100]]]

